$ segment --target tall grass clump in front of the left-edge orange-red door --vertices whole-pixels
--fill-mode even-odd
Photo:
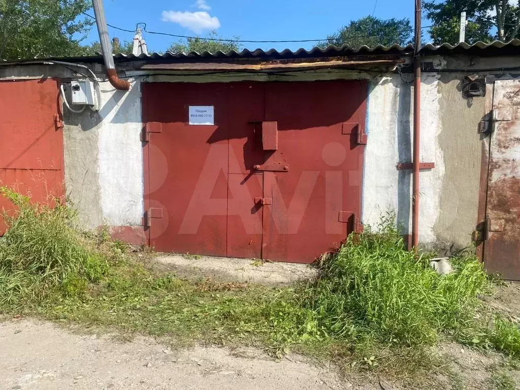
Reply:
[[[84,290],[106,273],[105,257],[74,228],[75,212],[58,200],[55,207],[0,187],[16,207],[5,214],[8,231],[0,238],[0,304],[39,301],[48,292]]]

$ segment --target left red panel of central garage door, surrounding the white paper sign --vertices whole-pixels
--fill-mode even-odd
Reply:
[[[189,106],[214,106],[214,125],[189,125]],[[228,101],[225,84],[145,83],[145,210],[158,251],[226,256]],[[157,212],[155,215],[159,215]]]

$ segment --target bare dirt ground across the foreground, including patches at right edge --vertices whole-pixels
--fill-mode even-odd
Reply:
[[[503,283],[486,301],[513,320],[520,317],[519,284]],[[519,360],[452,342],[442,343],[438,354],[444,367],[428,375],[431,378],[418,378],[417,387],[407,387],[371,373],[340,376],[333,365],[318,365],[298,355],[277,361],[252,348],[210,345],[174,350],[151,337],[123,342],[116,334],[85,334],[82,328],[0,316],[0,390],[520,389]],[[434,387],[420,385],[432,380]]]

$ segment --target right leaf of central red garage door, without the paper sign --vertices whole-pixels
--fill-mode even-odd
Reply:
[[[353,230],[340,215],[360,215],[366,116],[364,81],[270,83],[266,121],[276,121],[278,149],[265,164],[263,257],[310,263]],[[345,123],[355,126],[344,126]],[[345,128],[349,128],[345,131]]]

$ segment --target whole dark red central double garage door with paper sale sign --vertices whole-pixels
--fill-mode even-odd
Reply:
[[[308,263],[361,209],[367,85],[143,86],[148,239],[160,251]],[[214,122],[189,124],[190,106]]]

